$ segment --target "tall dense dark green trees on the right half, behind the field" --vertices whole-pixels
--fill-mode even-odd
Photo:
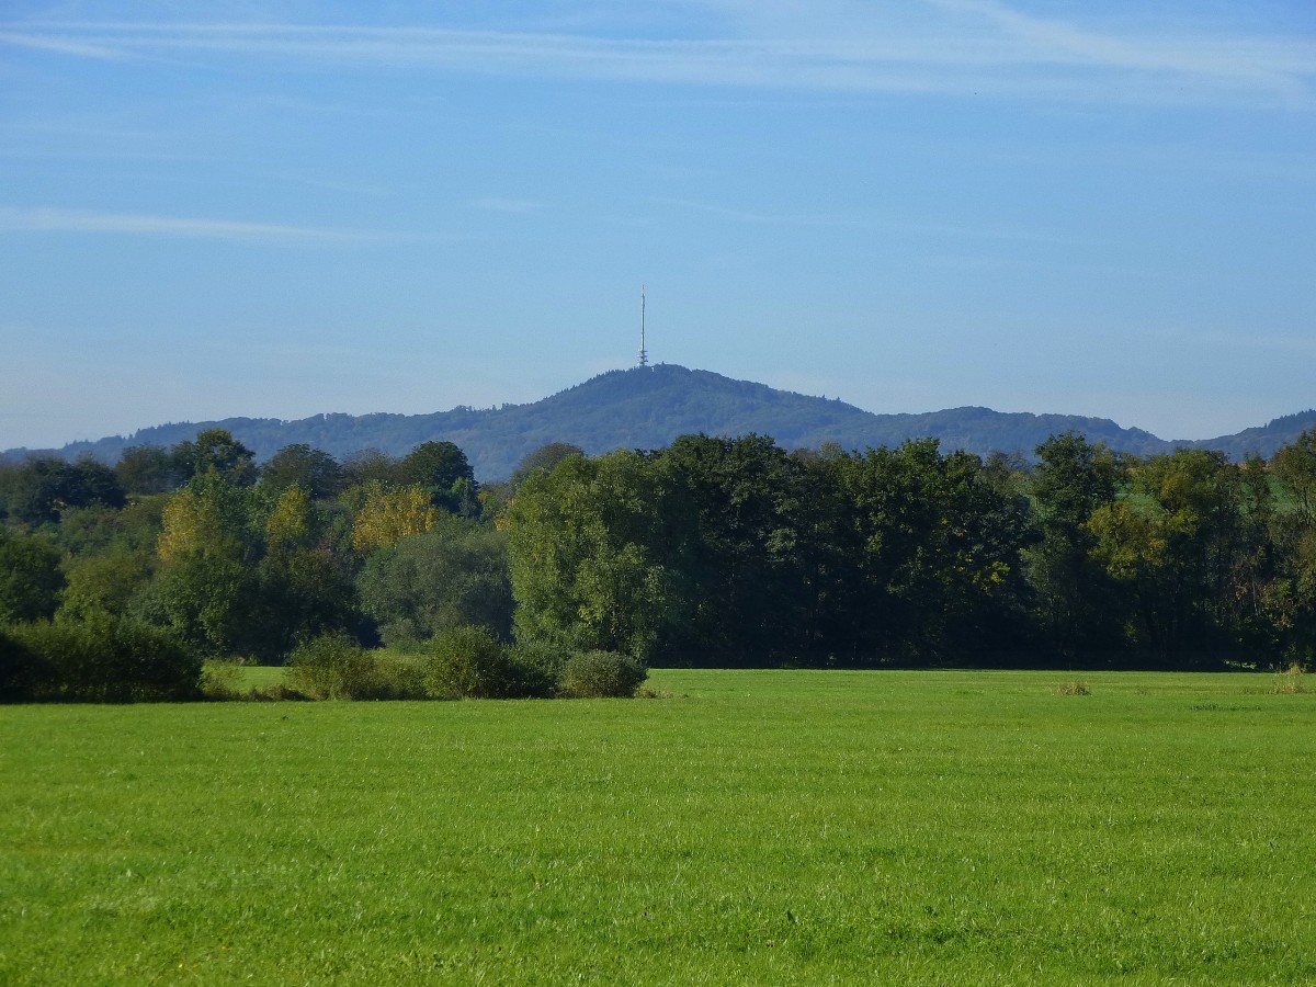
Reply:
[[[507,512],[516,630],[654,663],[1311,659],[1316,433],[1242,466],[1076,433],[1036,453],[687,436],[571,459]]]

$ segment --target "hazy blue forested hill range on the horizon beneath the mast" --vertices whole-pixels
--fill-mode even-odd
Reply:
[[[462,447],[479,479],[496,480],[511,475],[526,453],[549,442],[571,442],[595,455],[620,447],[657,449],[692,432],[715,436],[757,432],[771,436],[786,449],[817,449],[824,442],[836,442],[842,449],[865,449],[933,437],[941,441],[944,450],[1032,455],[1048,436],[1075,429],[1094,442],[1140,455],[1199,446],[1241,459],[1248,453],[1270,455],[1303,429],[1316,428],[1316,411],[1277,418],[1237,436],[1170,442],[1150,432],[1121,428],[1108,418],[1075,415],[1003,413],[990,408],[874,415],[841,400],[778,391],[707,370],[659,365],[600,374],[532,404],[484,411],[458,407],[433,415],[316,415],[299,421],[175,422],[126,437],[71,442],[59,450],[41,451],[68,458],[89,453],[104,462],[114,462],[128,446],[170,446],[193,438],[204,428],[228,429],[262,461],[295,442],[324,449],[342,459],[371,447],[403,455],[420,442],[447,440]],[[9,450],[5,457],[21,457],[28,451]]]

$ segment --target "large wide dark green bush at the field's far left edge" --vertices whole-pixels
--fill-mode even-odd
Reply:
[[[29,654],[28,699],[136,703],[199,695],[200,658],[167,630],[132,617],[92,612],[9,633]]]

